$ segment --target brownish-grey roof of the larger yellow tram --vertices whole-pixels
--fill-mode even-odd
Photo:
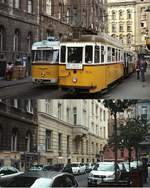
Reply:
[[[80,38],[78,39],[71,39],[71,38],[66,38],[66,39],[63,39],[62,42],[100,42],[100,43],[103,43],[103,44],[108,44],[108,45],[113,45],[115,47],[118,47],[118,48],[123,48],[123,45],[122,43],[118,40],[118,39],[115,39],[105,33],[101,33],[101,34],[98,34],[98,35],[81,35]]]

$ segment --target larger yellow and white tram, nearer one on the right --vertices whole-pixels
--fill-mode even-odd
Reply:
[[[101,91],[133,71],[131,52],[106,34],[62,41],[59,62],[59,86],[89,93]]]

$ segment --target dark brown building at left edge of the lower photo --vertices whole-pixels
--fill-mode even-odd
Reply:
[[[32,100],[1,99],[0,166],[25,170],[34,162],[38,162],[36,103]]]

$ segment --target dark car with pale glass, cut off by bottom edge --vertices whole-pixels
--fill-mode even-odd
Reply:
[[[56,171],[27,172],[16,176],[3,187],[78,187],[76,178],[69,173]]]

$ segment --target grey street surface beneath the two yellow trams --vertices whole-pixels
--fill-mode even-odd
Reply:
[[[26,98],[51,98],[51,99],[90,99],[90,98],[117,98],[117,99],[147,99],[150,98],[150,69],[145,74],[146,81],[136,79],[136,74],[132,74],[119,84],[115,84],[105,92],[96,94],[69,93],[62,91],[56,86],[35,87],[31,78],[17,81],[0,81],[0,97],[26,97]]]

